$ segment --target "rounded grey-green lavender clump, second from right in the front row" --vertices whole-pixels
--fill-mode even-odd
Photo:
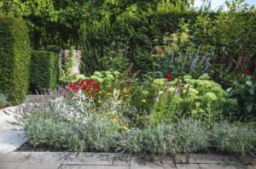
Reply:
[[[210,137],[207,128],[201,121],[181,121],[175,127],[173,144],[179,153],[192,153],[207,149]]]

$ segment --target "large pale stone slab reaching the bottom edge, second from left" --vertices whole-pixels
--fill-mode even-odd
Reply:
[[[30,158],[17,169],[57,169],[68,155],[65,152],[32,152]]]

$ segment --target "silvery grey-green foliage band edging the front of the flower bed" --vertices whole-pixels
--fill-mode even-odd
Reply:
[[[29,143],[38,147],[175,155],[214,146],[235,154],[255,153],[254,126],[220,122],[208,128],[203,121],[182,120],[143,129],[119,130],[120,117],[126,117],[118,106],[113,105],[108,111],[100,105],[102,114],[94,110],[95,104],[81,93],[73,99],[59,94],[47,95],[41,101],[40,104],[24,104],[17,112],[22,117],[19,122],[26,130]],[[119,114],[118,121],[113,121],[115,113]]]

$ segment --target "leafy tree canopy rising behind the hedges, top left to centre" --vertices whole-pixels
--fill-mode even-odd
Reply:
[[[0,14],[26,20],[31,30],[34,48],[51,48],[78,45],[78,30],[83,20],[95,22],[106,16],[115,20],[128,8],[141,10],[157,8],[160,4],[172,4],[189,8],[194,0],[16,0],[0,3]]]

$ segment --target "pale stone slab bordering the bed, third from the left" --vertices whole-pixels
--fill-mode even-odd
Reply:
[[[113,165],[114,153],[73,153],[63,164],[73,165]]]

